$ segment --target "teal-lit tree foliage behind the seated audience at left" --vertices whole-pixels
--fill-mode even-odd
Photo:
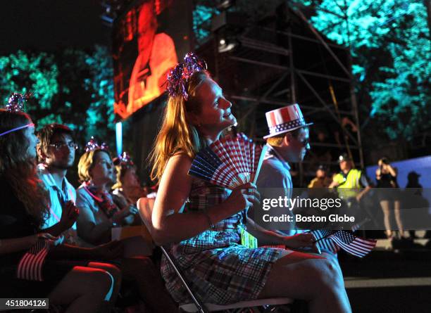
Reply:
[[[114,142],[113,67],[104,46],[58,53],[18,51],[0,56],[0,98],[31,91],[25,108],[38,127],[67,124],[84,144],[90,136]]]

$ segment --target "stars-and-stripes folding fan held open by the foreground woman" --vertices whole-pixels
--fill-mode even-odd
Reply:
[[[229,189],[248,182],[256,183],[266,148],[242,133],[227,136],[199,151],[189,175]]]

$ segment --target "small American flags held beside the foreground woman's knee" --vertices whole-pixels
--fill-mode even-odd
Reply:
[[[342,248],[346,253],[355,255],[356,257],[365,257],[375,247],[377,241],[375,239],[364,239],[355,236],[352,231],[338,230],[327,231],[320,230],[321,238],[316,240],[331,239],[339,248]]]

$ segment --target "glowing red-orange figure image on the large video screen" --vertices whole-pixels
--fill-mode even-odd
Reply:
[[[114,112],[126,119],[161,96],[166,76],[190,50],[189,0],[135,1],[113,27]],[[184,11],[182,11],[184,12]],[[175,27],[173,27],[175,25]]]

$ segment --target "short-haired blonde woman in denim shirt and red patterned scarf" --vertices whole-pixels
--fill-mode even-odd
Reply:
[[[110,186],[113,183],[111,154],[103,144],[94,140],[78,164],[83,181],[77,189],[76,206],[80,210],[77,234],[92,245],[111,241],[111,229],[133,222],[137,208],[126,206],[120,210],[113,202]],[[166,292],[160,273],[149,257],[123,257],[120,269],[125,281],[137,283],[139,296],[150,312],[176,312],[177,305]]]

